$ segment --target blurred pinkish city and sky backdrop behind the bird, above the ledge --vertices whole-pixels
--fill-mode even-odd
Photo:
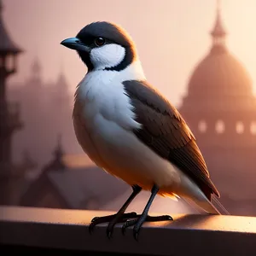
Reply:
[[[255,216],[255,10],[254,0],[0,0],[0,204],[116,211],[131,194],[77,143],[73,93],[86,67],[60,44],[109,20],[188,122],[224,207]],[[157,197],[151,211],[194,210]]]

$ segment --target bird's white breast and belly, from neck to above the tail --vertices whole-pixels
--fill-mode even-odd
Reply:
[[[145,79],[139,62],[123,72],[88,73],[79,84],[73,122],[84,152],[102,169],[143,189],[151,189],[156,183],[172,194],[181,190],[181,183],[190,186],[182,172],[132,133],[141,125],[134,120],[130,99],[124,93],[122,82],[127,79]]]

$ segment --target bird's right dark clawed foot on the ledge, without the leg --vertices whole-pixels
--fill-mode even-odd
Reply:
[[[138,233],[143,225],[144,222],[157,222],[157,221],[166,221],[166,220],[173,220],[173,218],[170,215],[161,215],[161,216],[143,216],[143,214],[137,215],[137,218],[135,219],[127,219],[125,224],[122,227],[123,235],[125,235],[125,231],[128,227],[133,227],[133,236],[137,240],[138,239]]]

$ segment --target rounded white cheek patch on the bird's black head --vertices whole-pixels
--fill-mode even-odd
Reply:
[[[115,67],[125,58],[125,48],[119,44],[106,44],[90,51],[90,61],[96,70]]]

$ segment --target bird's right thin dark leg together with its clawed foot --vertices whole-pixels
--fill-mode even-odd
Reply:
[[[151,190],[151,195],[150,195],[150,198],[148,200],[148,203],[147,203],[146,207],[143,210],[143,214],[137,215],[136,219],[127,220],[125,222],[125,224],[123,225],[123,227],[122,227],[123,234],[125,234],[125,229],[126,228],[135,225],[134,228],[133,228],[133,236],[137,240],[138,232],[139,232],[139,230],[140,230],[140,228],[141,228],[141,226],[143,225],[144,222],[172,220],[172,217],[169,216],[169,215],[148,216],[149,208],[151,207],[151,204],[154,201],[154,197],[155,197],[155,195],[157,195],[158,191],[159,191],[159,188],[154,185],[153,189]]]

